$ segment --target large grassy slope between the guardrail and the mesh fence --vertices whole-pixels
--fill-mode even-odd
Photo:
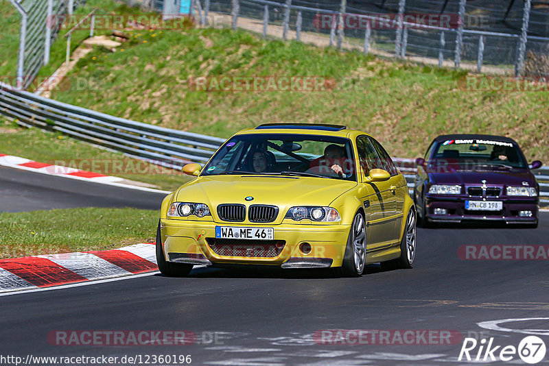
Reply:
[[[90,3],[93,1],[90,1]],[[503,134],[529,160],[549,160],[549,93],[467,91],[466,71],[380,60],[230,29],[133,31],[124,52],[95,49],[69,76],[94,88],[52,97],[118,117],[220,137],[259,123],[340,123],[377,137],[393,156],[415,157],[434,136]],[[161,55],[161,57],[159,57]],[[318,92],[201,91],[193,77],[331,77]]]

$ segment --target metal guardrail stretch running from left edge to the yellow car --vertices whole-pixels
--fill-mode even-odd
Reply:
[[[19,125],[52,132],[121,151],[132,158],[165,167],[180,168],[187,162],[207,162],[224,138],[205,136],[113,117],[71,106],[0,82],[0,114]]]

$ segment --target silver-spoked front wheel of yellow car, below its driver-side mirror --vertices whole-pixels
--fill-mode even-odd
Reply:
[[[349,230],[340,273],[345,277],[360,277],[364,273],[364,268],[366,268],[366,222],[362,212],[358,212]]]

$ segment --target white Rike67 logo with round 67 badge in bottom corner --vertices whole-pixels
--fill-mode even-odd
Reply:
[[[476,350],[478,347],[478,350]],[[536,336],[524,337],[518,347],[514,345],[493,345],[493,337],[487,341],[480,342],[474,338],[465,338],[458,361],[504,361],[515,360],[517,356],[525,363],[535,364],[544,359],[546,345],[544,341]],[[472,356],[471,356],[472,355]]]

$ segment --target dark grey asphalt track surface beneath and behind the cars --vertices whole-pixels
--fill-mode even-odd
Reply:
[[[2,175],[0,189],[5,190],[12,178]],[[40,207],[66,207],[67,197],[80,206],[82,202],[107,206],[114,198],[114,206],[159,205],[145,192],[117,189],[110,197],[106,192],[114,188],[100,187],[97,192],[105,194],[100,199],[89,188],[92,183],[82,191],[82,187],[69,188],[78,186],[78,181],[45,175],[36,180],[13,184],[12,195],[24,192],[30,198],[41,197]],[[0,209],[6,202],[2,197]],[[470,244],[546,245],[548,224],[549,214],[544,212],[535,230],[497,225],[418,228],[413,269],[382,271],[373,265],[361,278],[332,278],[323,271],[202,267],[188,278],[154,274],[0,297],[0,356],[25,360],[27,355],[104,355],[120,360],[141,355],[144,362],[153,355],[191,355],[191,365],[468,365],[457,360],[463,337],[493,337],[493,345],[516,347],[528,335],[525,330],[535,330],[549,346],[547,319],[499,324],[507,330],[478,325],[548,318],[549,260],[463,260],[457,254],[461,245]],[[334,329],[400,330],[400,334],[405,330],[456,330],[460,339],[438,345],[424,344],[433,342],[419,337],[420,344],[399,344],[392,335],[392,344],[334,345],[312,337],[320,330]],[[57,330],[186,330],[197,339],[191,345],[51,344],[48,334]],[[478,347],[471,356],[477,351]],[[522,364],[518,356],[514,360]],[[540,365],[548,361],[549,354]],[[82,363],[71,363],[77,364]]]

